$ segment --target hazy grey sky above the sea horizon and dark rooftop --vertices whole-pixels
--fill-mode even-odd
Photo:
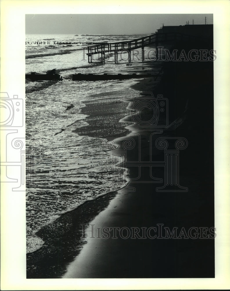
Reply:
[[[213,24],[212,14],[26,14],[26,34],[151,34],[163,24]]]

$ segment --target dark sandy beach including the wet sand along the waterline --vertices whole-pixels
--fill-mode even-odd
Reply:
[[[124,172],[127,182],[122,189],[87,201],[39,230],[37,235],[45,244],[28,254],[27,278],[214,277],[214,239],[82,238],[82,228],[90,230],[90,225],[126,230],[214,226],[213,62],[152,65],[152,70],[161,72],[158,78],[136,80],[130,88],[96,94],[84,102],[81,112],[88,116],[88,125],[75,132],[112,141],[116,150],[108,143],[105,151],[125,155],[120,167],[128,170]],[[149,70],[151,64],[146,67]],[[133,124],[133,100],[144,100],[141,92],[168,99],[169,126],[162,133]],[[118,100],[117,95],[122,97]],[[142,116],[148,120],[152,113],[144,108]],[[153,177],[164,177],[163,166],[140,169],[128,164],[139,162],[140,157],[142,162],[162,161],[164,151],[154,146],[160,137],[187,140],[187,148],[179,152],[179,183],[188,191],[157,192],[164,179],[153,183]],[[124,142],[130,140],[124,149]]]

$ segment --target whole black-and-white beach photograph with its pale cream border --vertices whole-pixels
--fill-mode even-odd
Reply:
[[[24,39],[10,40],[15,50],[20,41],[24,70],[15,84],[24,95],[1,82],[1,182],[11,202],[24,203],[20,272],[29,284],[186,279],[207,289],[203,282],[220,276],[221,245],[229,258],[226,226],[218,228],[229,219],[219,172],[229,173],[222,139],[229,102],[217,104],[216,90],[229,56],[221,72],[216,11],[159,13],[150,1],[145,13],[104,12],[99,2],[101,9],[85,4],[78,13],[80,1],[70,2],[74,9],[63,13],[24,9]],[[2,55],[4,66],[10,51]],[[226,100],[223,88],[220,95]],[[66,280],[59,288],[72,290]],[[179,284],[167,288],[192,287]],[[228,289],[229,277],[223,284]]]

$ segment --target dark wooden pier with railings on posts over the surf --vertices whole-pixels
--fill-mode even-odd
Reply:
[[[96,45],[87,46],[88,52],[88,63],[92,63],[92,55],[99,54],[101,56],[101,62],[105,63],[105,54],[114,53],[115,63],[118,63],[118,52],[127,52],[128,60],[131,63],[131,51],[134,49],[141,48],[142,51],[142,61],[144,61],[144,47],[149,45],[155,45],[156,48],[156,58],[158,58],[158,46],[159,43],[172,43],[175,44],[177,41],[196,41],[197,39],[201,40],[200,37],[191,36],[183,33],[154,33],[150,36],[145,36],[143,38],[137,38],[129,41],[121,42],[112,42],[112,43],[99,43]]]

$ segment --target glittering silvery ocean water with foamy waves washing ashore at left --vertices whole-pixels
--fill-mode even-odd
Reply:
[[[44,242],[36,235],[42,226],[85,200],[118,189],[127,182],[124,169],[117,169],[119,179],[114,179],[114,164],[118,160],[106,152],[105,137],[78,135],[77,129],[87,125],[87,116],[81,112],[84,102],[93,100],[94,104],[103,104],[111,100],[120,102],[127,96],[133,98],[136,92],[127,88],[136,81],[76,82],[71,76],[78,72],[134,72],[121,58],[117,65],[112,57],[105,64],[95,57],[89,64],[82,42],[85,46],[139,37],[142,36],[26,35],[26,72],[42,73],[56,68],[63,77],[63,81],[51,86],[46,81],[26,80],[29,92],[26,93],[27,252],[42,247]],[[135,63],[135,72],[142,70],[141,61]]]

